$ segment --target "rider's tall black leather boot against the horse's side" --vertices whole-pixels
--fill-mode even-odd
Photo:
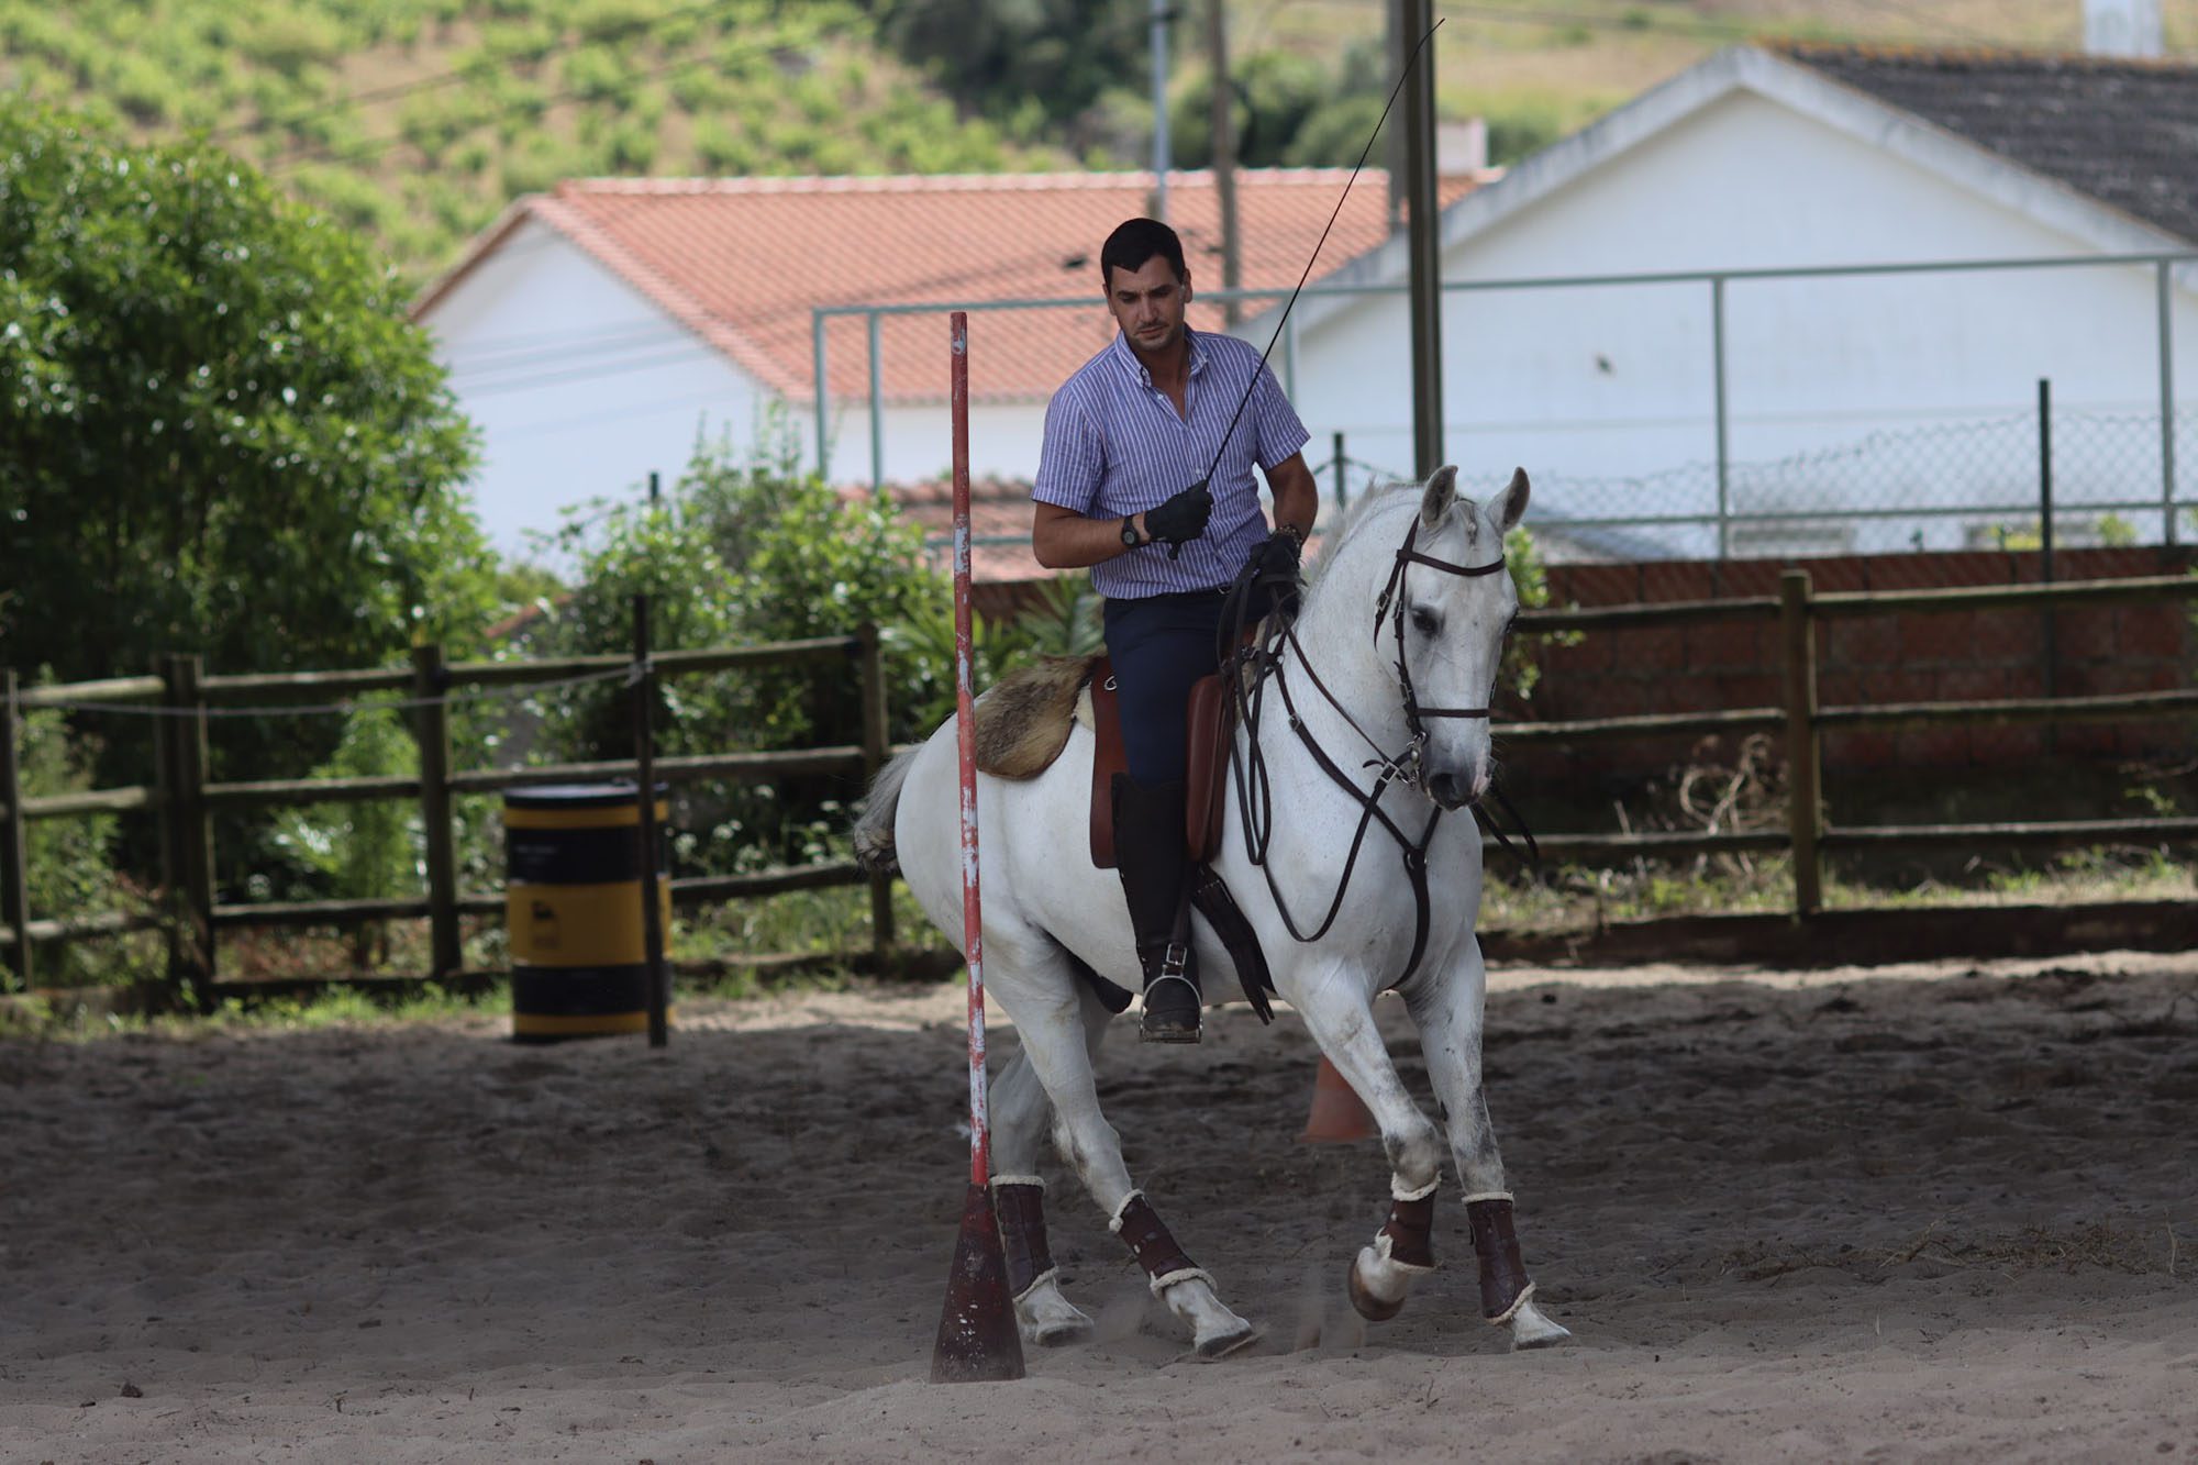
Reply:
[[[1191,952],[1191,851],[1183,783],[1114,774],[1114,867],[1145,968],[1145,1043],[1198,1043],[1198,959]]]

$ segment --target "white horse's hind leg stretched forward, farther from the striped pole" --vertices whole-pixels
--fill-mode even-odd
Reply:
[[[1233,1353],[1257,1337],[1257,1329],[1222,1304],[1213,1291],[1213,1276],[1183,1254],[1145,1201],[1145,1192],[1130,1183],[1130,1170],[1121,1161],[1121,1137],[1099,1113],[1092,1049],[1097,1029],[1103,1027],[1099,1023],[1103,1007],[1101,1014],[1092,1014],[1092,1007],[1097,999],[1064,970],[1057,996],[1020,994],[1011,1010],[1015,1032],[1022,1036],[1022,1056],[1053,1100],[1053,1142],[1106,1212],[1108,1230],[1123,1238],[1145,1269],[1154,1296],[1189,1324],[1198,1353],[1202,1357]]]

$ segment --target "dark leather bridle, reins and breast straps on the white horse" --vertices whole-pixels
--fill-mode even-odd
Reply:
[[[1380,640],[1383,620],[1389,620],[1396,631],[1396,673],[1405,695],[1405,726],[1411,732],[1411,739],[1405,743],[1402,752],[1396,754],[1383,752],[1380,743],[1374,741],[1374,737],[1358,724],[1356,717],[1352,717],[1350,708],[1343,706],[1332,691],[1328,691],[1328,684],[1321,682],[1321,675],[1312,669],[1310,658],[1306,658],[1306,647],[1297,640],[1297,629],[1295,625],[1290,625],[1288,618],[1279,614],[1270,616],[1266,623],[1268,629],[1264,638],[1246,645],[1244,620],[1251,612],[1253,592],[1259,590],[1262,585],[1275,590],[1295,590],[1295,581],[1284,583],[1284,576],[1277,574],[1262,576],[1257,574],[1255,565],[1246,565],[1244,574],[1237,576],[1237,583],[1229,592],[1229,609],[1224,609],[1222,616],[1222,636],[1224,645],[1229,647],[1226,656],[1222,658],[1224,678],[1235,717],[1246,732],[1242,757],[1235,752],[1235,748],[1231,748],[1229,754],[1231,785],[1235,787],[1237,796],[1237,816],[1244,820],[1244,853],[1251,858],[1253,864],[1259,867],[1259,873],[1266,878],[1266,889],[1275,897],[1275,911],[1281,913],[1281,924],[1288,928],[1290,937],[1297,941],[1319,941],[1323,935],[1328,935],[1328,928],[1336,924],[1336,915],[1343,911],[1343,895],[1352,884],[1352,871],[1358,867],[1358,853],[1365,847],[1367,829],[1380,825],[1389,834],[1389,838],[1396,840],[1398,853],[1402,856],[1405,878],[1411,882],[1411,897],[1416,911],[1411,957],[1405,961],[1405,970],[1391,985],[1402,985],[1405,981],[1411,979],[1413,972],[1420,970],[1420,959],[1427,955],[1427,937],[1431,928],[1433,902],[1427,889],[1427,849],[1429,845],[1433,845],[1435,829],[1442,825],[1444,807],[1435,803],[1433,794],[1429,794],[1427,790],[1427,770],[1422,759],[1427,750],[1427,726],[1422,719],[1488,717],[1492,713],[1492,708],[1486,706],[1424,706],[1420,702],[1418,691],[1411,684],[1411,667],[1405,658],[1405,609],[1409,598],[1402,594],[1405,576],[1411,565],[1429,565],[1433,570],[1442,570],[1444,574],[1477,579],[1503,570],[1506,563],[1503,557],[1499,554],[1486,565],[1453,565],[1451,561],[1420,552],[1418,541],[1420,541],[1420,515],[1413,513],[1411,530],[1407,530],[1405,543],[1398,548],[1396,563],[1389,570],[1389,583],[1383,587],[1380,601],[1376,601],[1374,605],[1376,642]],[[1290,693],[1284,649],[1297,651],[1297,664],[1306,673],[1306,680],[1312,682],[1312,689],[1321,695],[1321,700],[1328,702],[1328,706],[1336,711],[1339,717],[1343,717],[1345,726],[1350,726],[1367,743],[1367,748],[1374,750],[1374,757],[1361,763],[1361,768],[1374,770],[1372,790],[1361,790],[1358,783],[1352,779],[1352,774],[1345,772],[1336,763],[1336,759],[1319,743],[1319,739],[1312,737],[1312,730],[1306,728],[1306,719],[1297,711],[1297,697]],[[1347,792],[1358,803],[1358,829],[1352,834],[1352,847],[1343,860],[1343,873],[1336,878],[1336,893],[1330,897],[1328,913],[1321,917],[1321,924],[1310,933],[1299,928],[1297,917],[1290,913],[1288,900],[1284,900],[1281,886],[1275,882],[1275,871],[1268,864],[1268,845],[1275,836],[1275,801],[1273,801],[1273,783],[1268,781],[1266,772],[1266,754],[1259,748],[1259,724],[1266,708],[1268,684],[1273,684],[1275,691],[1281,693],[1281,711],[1288,717],[1290,730],[1297,732],[1299,743],[1303,743],[1306,752],[1312,754],[1314,765],[1323,774],[1328,774],[1328,779],[1336,787]],[[1391,818],[1389,812],[1380,807],[1383,794],[1391,783],[1398,781],[1409,781],[1429,798],[1431,807],[1427,814],[1427,823],[1420,827],[1418,836],[1407,834],[1402,825],[1398,825],[1396,818]],[[1532,851],[1530,858],[1539,860],[1541,851],[1534,849],[1534,836],[1528,834],[1525,823],[1519,818],[1517,809],[1510,807],[1510,801],[1503,798],[1501,790],[1497,790],[1497,798],[1503,803],[1503,809],[1510,814],[1512,823],[1519,827],[1519,834],[1525,838],[1528,849]],[[1497,836],[1497,840],[1506,849],[1517,853],[1517,847],[1510,842],[1510,838],[1503,834],[1501,827],[1497,827],[1490,820],[1488,829]]]

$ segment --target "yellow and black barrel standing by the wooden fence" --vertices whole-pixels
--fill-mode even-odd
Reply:
[[[657,911],[673,928],[657,798]],[[556,1043],[648,1029],[642,939],[642,801],[633,783],[554,783],[503,794],[503,919],[512,939],[512,1038]]]

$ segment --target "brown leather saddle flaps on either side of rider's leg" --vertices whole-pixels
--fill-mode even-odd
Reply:
[[[1128,757],[1121,746],[1121,702],[1114,695],[1114,662],[1106,656],[1092,662],[1092,730],[1099,748],[1092,752],[1092,798],[1090,798],[1090,842],[1092,864],[1114,869],[1114,774],[1128,772]],[[1183,798],[1183,840],[1191,853],[1191,908],[1207,917],[1213,935],[1222,939],[1229,959],[1235,961],[1237,979],[1244,983],[1244,999],[1262,1023],[1275,1018],[1275,1007],[1266,994],[1275,990],[1275,979],[1266,968],[1266,952],[1251,922],[1237,908],[1226,882],[1213,873],[1211,860],[1222,847],[1222,827],[1229,796],[1229,739],[1235,732],[1231,719],[1229,689],[1222,673],[1198,678],[1191,684],[1191,702],[1185,713],[1183,735],[1189,741],[1189,765]],[[1108,983],[1112,985],[1112,983]],[[1128,996],[1128,994],[1125,994]],[[1119,1012],[1119,1007],[1117,1007]]]

